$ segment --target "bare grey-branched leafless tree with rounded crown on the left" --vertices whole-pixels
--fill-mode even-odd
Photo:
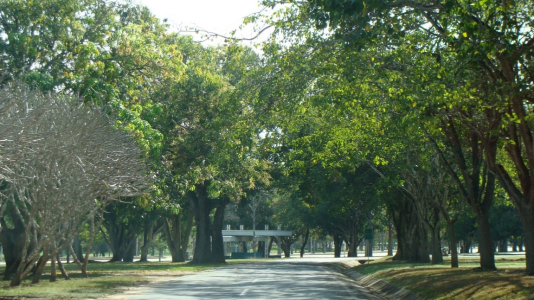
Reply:
[[[146,192],[151,178],[136,141],[104,111],[25,87],[5,88],[0,101],[0,204],[23,225],[16,286],[41,252],[34,282],[85,221],[119,197]]]

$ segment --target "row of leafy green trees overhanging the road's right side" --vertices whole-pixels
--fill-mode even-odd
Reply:
[[[451,229],[466,204],[476,216],[481,267],[495,269],[489,215],[504,189],[533,274],[531,5],[264,4],[279,7],[279,17],[266,20],[276,29],[264,48],[272,144],[289,148],[289,160],[305,153],[311,165],[366,164],[380,174],[397,191],[388,205],[399,258],[428,260],[426,231],[438,238],[442,219]]]

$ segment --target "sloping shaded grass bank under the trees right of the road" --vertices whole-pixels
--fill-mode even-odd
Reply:
[[[498,271],[477,270],[476,258],[460,261],[458,269],[445,264],[393,262],[391,257],[352,270],[404,287],[422,299],[534,299],[534,278],[524,276],[525,261],[496,260]]]

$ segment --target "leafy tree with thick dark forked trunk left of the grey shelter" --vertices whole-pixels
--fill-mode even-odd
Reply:
[[[239,79],[236,74],[245,76],[230,68],[234,61],[248,66],[257,56],[237,45],[203,48],[186,37],[177,42],[187,70],[183,81],[161,96],[169,99],[157,127],[166,136],[163,163],[172,169],[172,184],[194,215],[193,263],[224,262],[226,205],[257,181],[268,181],[266,165],[254,154],[258,137],[250,126],[251,100],[240,98],[239,84],[231,84]]]

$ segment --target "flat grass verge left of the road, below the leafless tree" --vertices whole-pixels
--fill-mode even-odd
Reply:
[[[32,285],[31,278],[19,287],[9,287],[9,281],[0,281],[0,299],[5,298],[44,298],[82,299],[101,298],[116,294],[125,288],[139,286],[154,280],[191,274],[210,269],[217,265],[187,265],[185,263],[91,263],[88,266],[89,278],[83,279],[75,264],[65,264],[72,280],[65,280],[58,270],[56,282],[49,282],[50,269],[47,266],[41,282]],[[0,267],[3,273],[3,267]]]

